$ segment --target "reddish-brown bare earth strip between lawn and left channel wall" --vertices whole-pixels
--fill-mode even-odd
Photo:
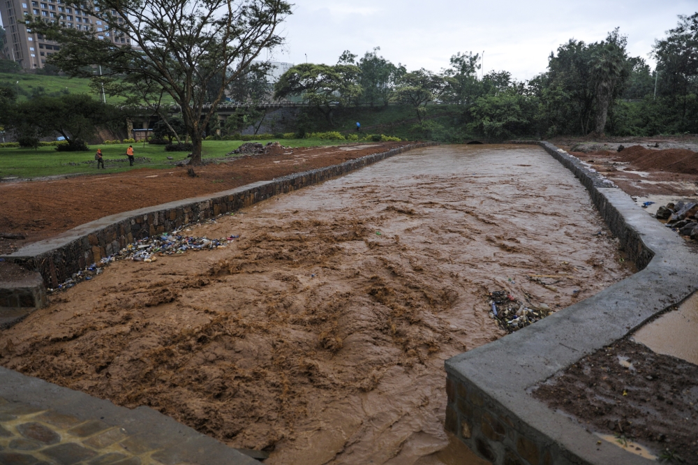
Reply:
[[[246,156],[195,168],[198,175],[195,178],[187,176],[186,168],[173,166],[172,170],[144,168],[50,181],[3,182],[0,184],[0,233],[22,232],[27,239],[0,238],[0,253],[10,253],[29,242],[110,214],[336,165],[407,144],[371,142],[288,149],[278,155]]]

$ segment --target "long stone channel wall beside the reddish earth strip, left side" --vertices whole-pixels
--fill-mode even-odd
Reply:
[[[117,253],[126,244],[138,239],[170,232],[188,223],[233,212],[274,195],[318,184],[410,149],[431,145],[438,144],[425,142],[407,145],[388,152],[346,161],[339,165],[300,172],[272,181],[248,184],[214,195],[106,216],[103,219],[78,226],[52,239],[29,244],[15,253],[0,258],[23,265],[28,270],[38,271],[43,277],[45,286],[55,288],[74,273],[84,270],[85,267],[98,262],[103,257]]]

